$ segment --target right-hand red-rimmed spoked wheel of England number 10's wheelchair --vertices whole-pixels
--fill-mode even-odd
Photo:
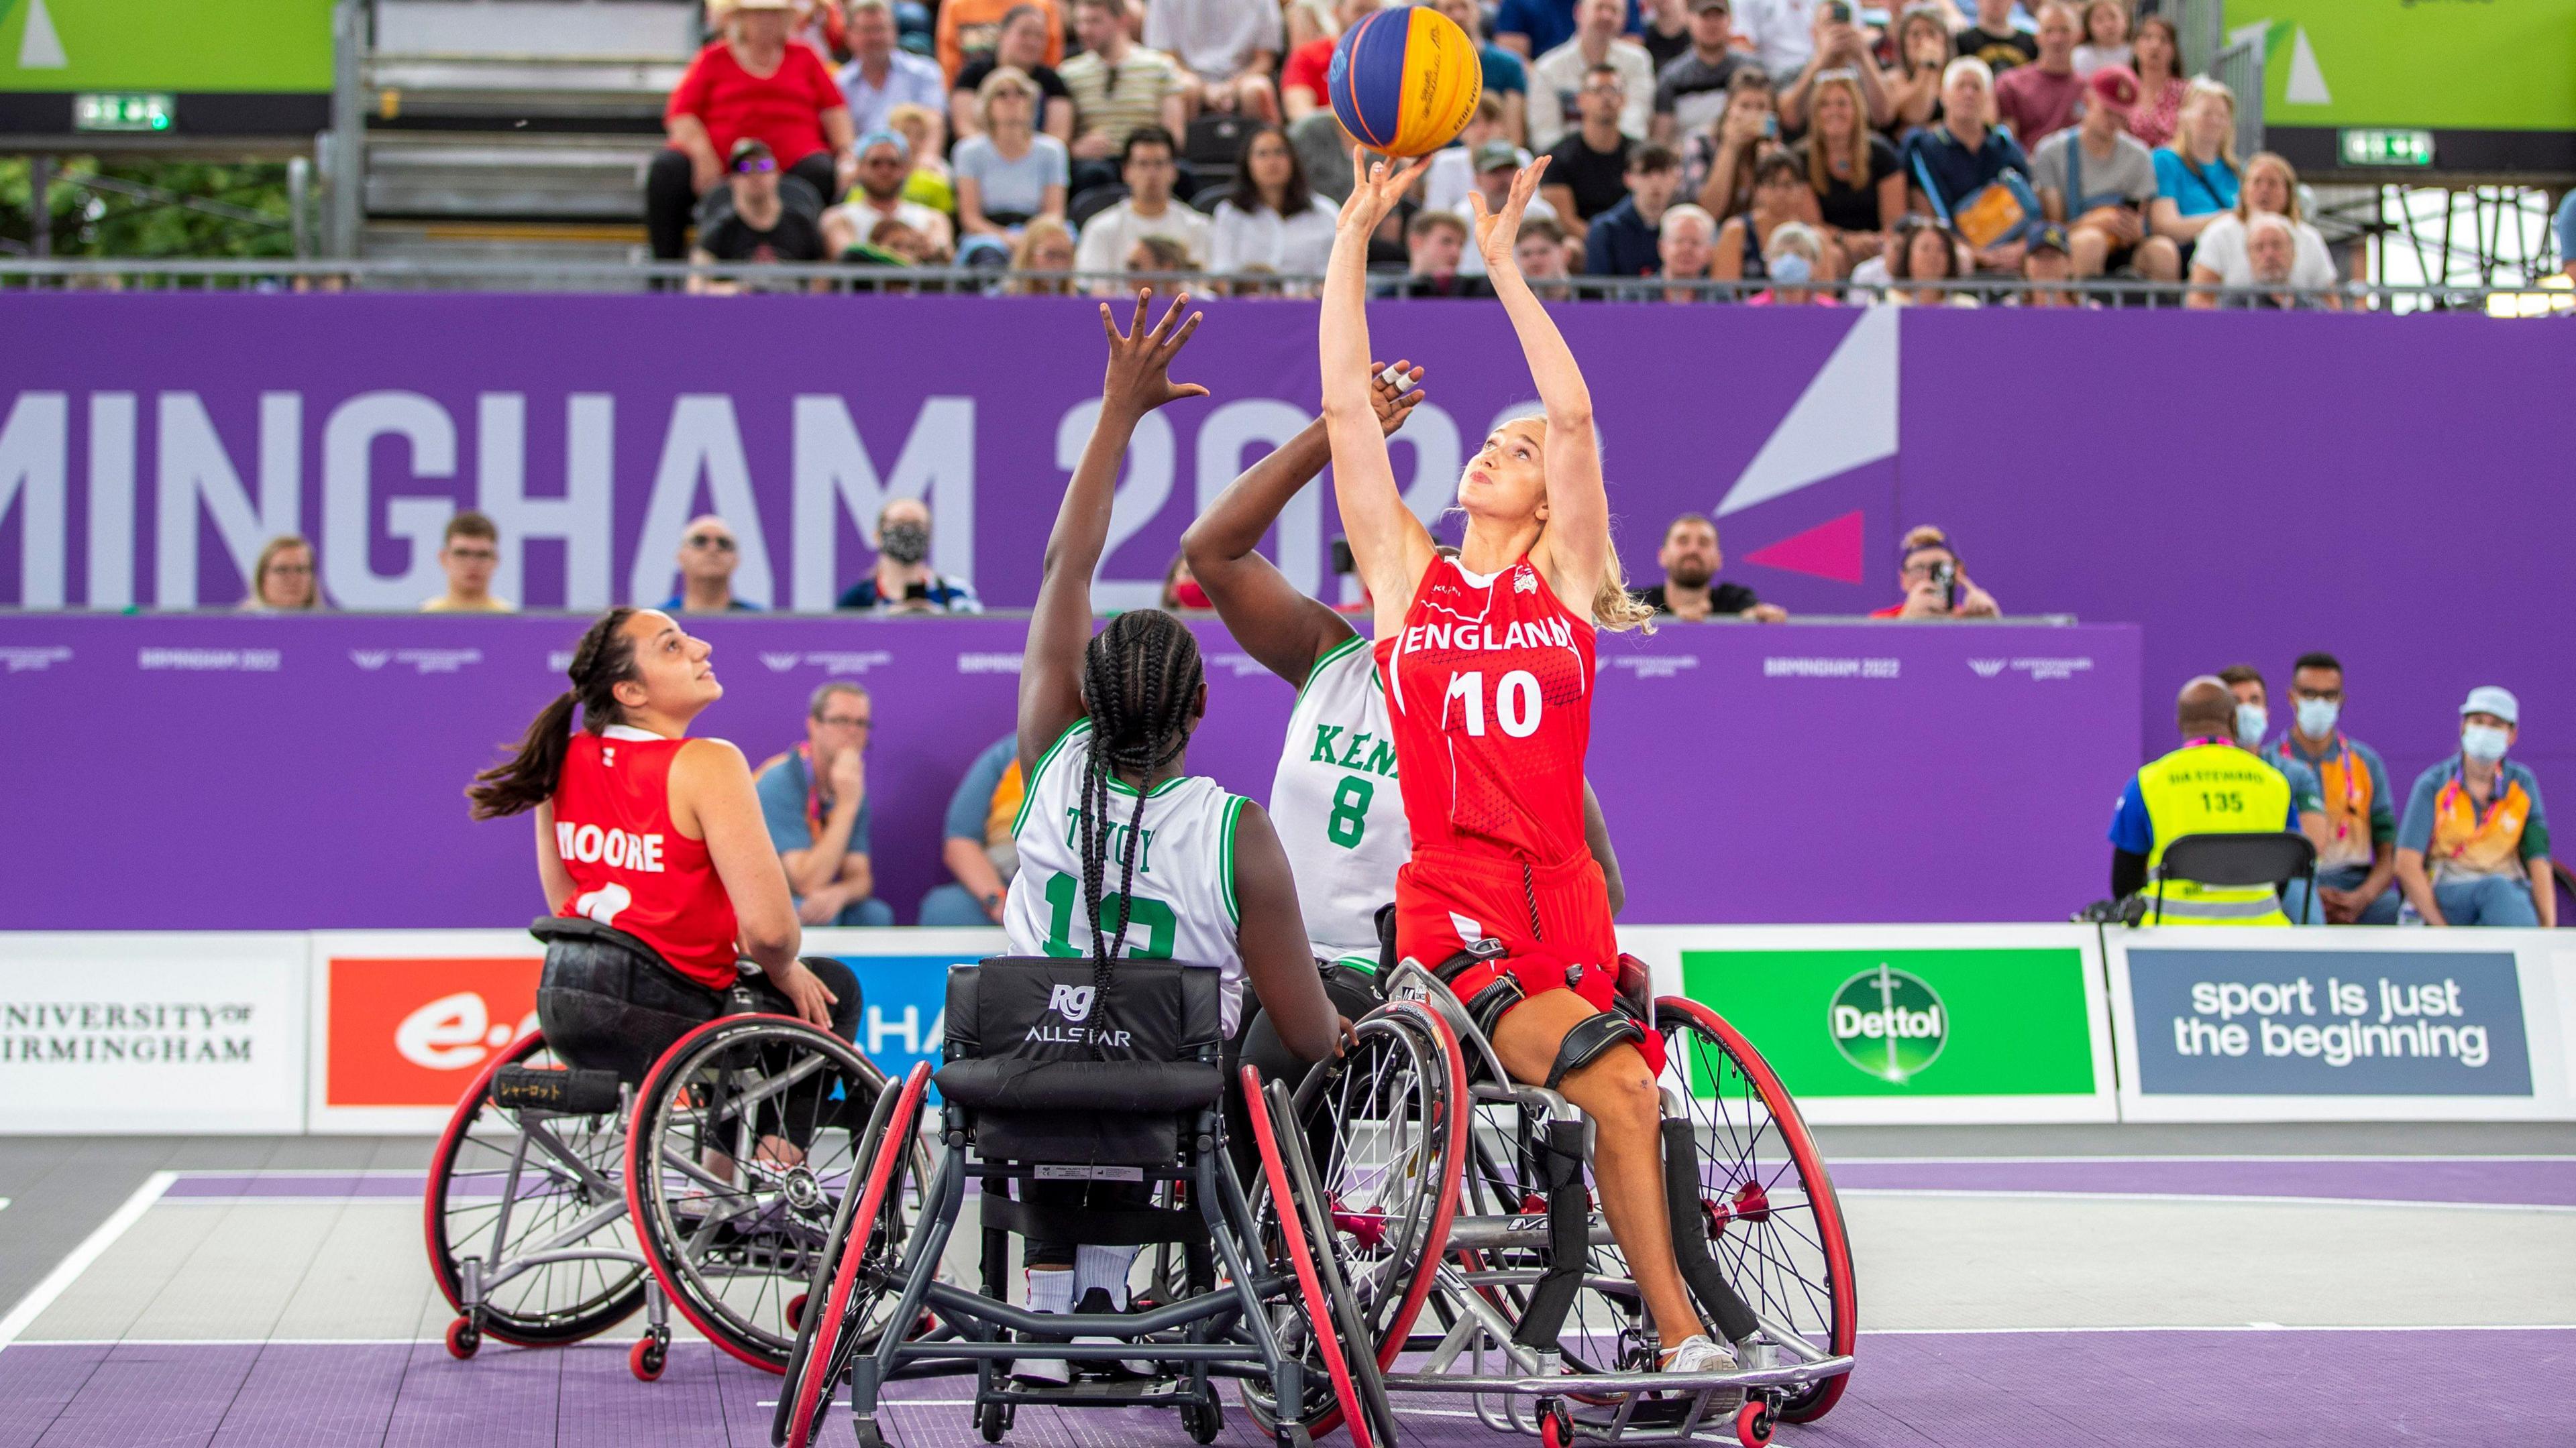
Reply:
[[[1852,1244],[1798,1103],[1716,1010],[1667,995],[1654,1015],[1700,1149],[1700,1214],[1718,1270],[1767,1324],[1847,1355],[1860,1332]],[[1801,1389],[1775,1415],[1824,1417],[1847,1381]]]

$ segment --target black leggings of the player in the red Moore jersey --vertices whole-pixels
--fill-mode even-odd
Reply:
[[[677,152],[672,152],[677,155]],[[804,961],[835,997],[832,1033],[858,1041],[858,976],[829,956]],[[796,1015],[765,974],[742,976],[755,1010]],[[726,992],[703,987],[657,956],[611,940],[549,940],[536,987],[536,1023],[567,1064],[611,1069],[641,1082],[672,1041],[726,1013]]]

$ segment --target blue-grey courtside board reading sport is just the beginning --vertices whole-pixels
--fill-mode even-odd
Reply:
[[[2105,930],[2123,1121],[2576,1118],[2555,930]]]

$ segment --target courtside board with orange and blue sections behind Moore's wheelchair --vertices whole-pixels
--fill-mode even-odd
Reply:
[[[536,1028],[544,948],[526,930],[322,930],[312,938],[312,1131],[440,1131],[495,1051]],[[806,930],[858,974],[858,1046],[886,1074],[938,1054],[953,961],[999,930]]]

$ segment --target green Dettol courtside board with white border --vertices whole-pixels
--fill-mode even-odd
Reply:
[[[2089,925],[1638,925],[1656,992],[1731,1020],[1808,1121],[2115,1121]]]

